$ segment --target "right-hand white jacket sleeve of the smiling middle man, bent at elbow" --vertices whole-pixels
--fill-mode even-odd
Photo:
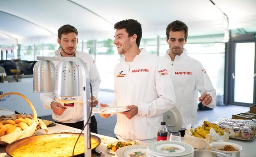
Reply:
[[[173,108],[176,104],[176,97],[174,88],[171,82],[169,71],[167,74],[162,75],[159,70],[167,70],[167,67],[163,62],[157,60],[155,64],[155,89],[158,98],[151,103],[142,103],[138,106],[138,115],[153,117],[161,115]]]

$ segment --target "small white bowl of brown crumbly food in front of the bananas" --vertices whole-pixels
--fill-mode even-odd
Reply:
[[[233,148],[237,149],[237,151],[219,150],[219,149],[223,149],[225,145],[231,145],[233,146]],[[229,155],[230,157],[240,157],[240,151],[242,150],[242,146],[231,143],[231,142],[212,142],[210,143],[210,148],[213,151],[224,153],[226,155]]]

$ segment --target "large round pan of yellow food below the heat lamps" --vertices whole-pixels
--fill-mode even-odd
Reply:
[[[91,150],[100,144],[101,139],[91,135]],[[55,133],[26,137],[7,145],[5,152],[11,157],[77,157],[85,153],[84,134]]]

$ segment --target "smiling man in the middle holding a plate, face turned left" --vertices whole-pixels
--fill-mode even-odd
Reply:
[[[174,107],[175,95],[167,67],[158,57],[139,49],[142,27],[133,19],[114,24],[114,44],[123,55],[114,69],[114,100],[100,106],[123,106],[114,133],[121,141],[157,141],[163,113]],[[109,114],[100,114],[107,118]]]

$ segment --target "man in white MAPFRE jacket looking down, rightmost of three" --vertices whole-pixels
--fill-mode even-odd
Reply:
[[[168,67],[174,92],[176,107],[182,114],[183,125],[181,136],[184,136],[186,126],[197,122],[197,97],[204,106],[215,107],[216,91],[202,64],[187,55],[183,48],[187,42],[188,27],[180,20],[171,22],[166,28],[166,41],[169,50],[160,56],[160,60]]]

